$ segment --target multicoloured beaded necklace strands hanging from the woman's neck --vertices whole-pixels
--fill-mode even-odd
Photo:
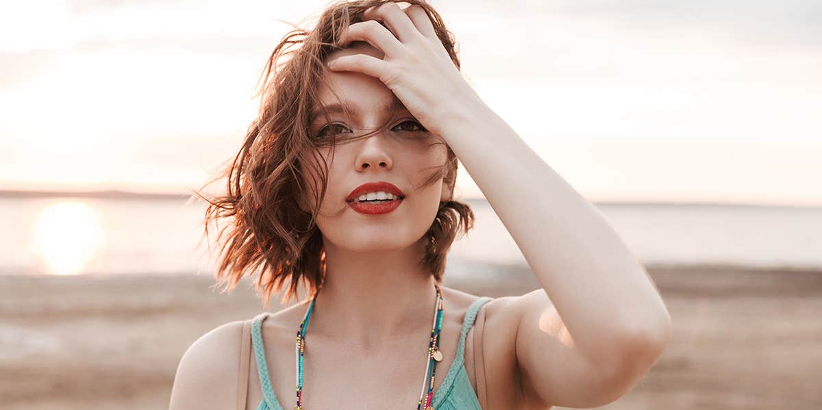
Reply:
[[[440,285],[434,283],[436,288],[436,302],[434,303],[434,320],[431,329],[431,338],[428,339],[428,352],[425,362],[425,377],[423,378],[423,389],[419,394],[419,401],[417,403],[417,410],[423,408],[423,398],[425,398],[425,410],[434,410],[431,405],[434,391],[434,375],[436,373],[436,363],[442,361],[442,352],[440,351],[440,329],[442,328],[442,293]],[[297,345],[295,353],[297,357],[297,405],[294,410],[302,410],[302,357],[305,355],[306,346],[306,328],[308,327],[308,320],[311,319],[311,312],[314,310],[314,302],[316,295],[312,297],[311,304],[308,306],[306,313],[302,316],[300,322],[300,329],[297,331]],[[427,386],[427,391],[426,391]]]

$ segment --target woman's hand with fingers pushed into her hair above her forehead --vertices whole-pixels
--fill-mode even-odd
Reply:
[[[438,135],[448,122],[467,119],[474,107],[481,106],[481,99],[451,62],[423,7],[413,5],[403,11],[388,2],[368,8],[363,19],[349,26],[339,44],[366,41],[380,49],[383,58],[365,53],[340,56],[327,62],[330,70],[359,71],[378,78],[423,127]]]

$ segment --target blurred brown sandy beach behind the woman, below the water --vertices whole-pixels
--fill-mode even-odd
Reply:
[[[602,408],[822,408],[822,271],[648,269],[674,337],[635,389]],[[446,285],[491,297],[538,288],[527,267],[494,270],[496,279],[462,282],[446,274]],[[229,294],[212,283],[207,274],[0,276],[2,408],[168,408],[186,348],[265,310],[251,282]]]

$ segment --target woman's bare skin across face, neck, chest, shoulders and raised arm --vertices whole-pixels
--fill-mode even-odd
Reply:
[[[413,118],[428,132],[383,131],[338,145],[333,159],[324,153],[331,159],[330,183],[317,224],[329,276],[307,331],[312,357],[305,362],[311,379],[304,403],[348,409],[417,402],[435,292],[430,275],[413,261],[422,255],[420,239],[439,201],[450,196],[441,181],[418,187],[424,169],[446,159],[434,141],[455,151],[543,287],[487,302],[479,313],[482,334],[469,332],[465,366],[475,392],[484,391],[478,394],[482,408],[589,408],[621,397],[671,337],[671,318],[642,265],[602,214],[473,92],[420,7],[387,3],[366,17],[387,28],[376,21],[351,25],[344,43],[371,45],[334,53],[328,61],[335,65],[326,72],[330,87],[361,113],[332,120],[363,130]],[[378,107],[394,96],[404,110],[392,117]],[[322,100],[336,99],[323,90]],[[349,191],[370,181],[395,183],[406,200],[379,216],[346,209]],[[521,200],[523,192],[528,200]],[[445,359],[437,366],[435,391],[454,360],[465,311],[477,298],[442,290]],[[306,307],[278,311],[263,327],[284,408],[295,404],[294,334]],[[222,325],[192,344],[178,367],[171,408],[233,408],[241,329],[239,321]],[[252,409],[261,392],[256,367],[250,371]],[[357,399],[341,399],[351,397]]]

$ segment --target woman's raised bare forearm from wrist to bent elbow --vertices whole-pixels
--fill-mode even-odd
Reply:
[[[637,340],[661,350],[671,318],[625,242],[492,109],[465,100],[475,102],[462,104],[438,131],[514,237],[580,350],[620,357],[612,349]]]

